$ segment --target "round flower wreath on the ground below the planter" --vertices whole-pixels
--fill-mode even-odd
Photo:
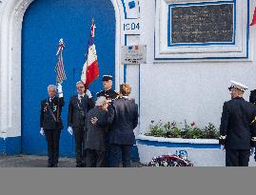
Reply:
[[[162,155],[154,157],[147,166],[193,166],[186,156],[182,155]]]

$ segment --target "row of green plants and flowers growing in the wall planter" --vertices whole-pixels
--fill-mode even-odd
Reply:
[[[164,124],[162,121],[158,123],[151,121],[149,132],[145,135],[184,139],[219,139],[220,130],[211,123],[208,123],[207,127],[199,128],[195,122],[188,124],[186,120],[184,124],[180,123],[179,127],[176,122]]]

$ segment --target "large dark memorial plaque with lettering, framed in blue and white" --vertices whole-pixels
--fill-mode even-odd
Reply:
[[[170,43],[233,43],[234,5],[170,7]]]

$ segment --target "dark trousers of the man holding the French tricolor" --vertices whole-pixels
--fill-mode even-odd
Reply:
[[[73,132],[75,139],[76,166],[84,166],[84,127],[73,127]]]

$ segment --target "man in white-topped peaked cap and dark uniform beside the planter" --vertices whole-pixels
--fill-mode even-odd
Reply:
[[[226,148],[226,166],[248,166],[255,131],[255,105],[243,98],[247,87],[231,81],[231,100],[224,103],[220,144]]]

